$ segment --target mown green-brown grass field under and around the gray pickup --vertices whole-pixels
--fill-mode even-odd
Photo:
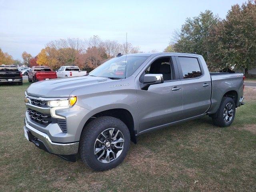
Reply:
[[[124,162],[95,172],[24,137],[23,86],[0,86],[0,191],[255,191],[256,89],[232,126],[208,117],[138,137]]]

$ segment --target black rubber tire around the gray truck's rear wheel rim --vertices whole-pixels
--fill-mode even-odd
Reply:
[[[224,109],[227,104],[231,103],[233,106],[233,112],[232,112],[232,118],[229,122],[226,122],[224,120]],[[214,125],[219,127],[227,127],[230,126],[235,118],[236,114],[236,104],[234,100],[230,97],[223,97],[220,102],[220,107],[218,108],[217,112],[215,114],[212,114],[212,122]]]

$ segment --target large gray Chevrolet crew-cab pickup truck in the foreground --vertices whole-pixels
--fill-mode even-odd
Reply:
[[[86,76],[31,84],[24,134],[51,154],[107,170],[140,134],[205,115],[229,126],[243,90],[243,74],[209,73],[200,55],[118,56]]]

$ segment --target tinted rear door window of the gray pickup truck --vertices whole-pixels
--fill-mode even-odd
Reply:
[[[193,57],[178,57],[180,61],[180,66],[182,69],[182,74],[184,79],[197,78],[202,75],[200,65],[197,58]]]

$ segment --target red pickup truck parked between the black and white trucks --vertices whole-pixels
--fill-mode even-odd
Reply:
[[[28,72],[29,82],[43,81],[56,78],[56,71],[52,71],[52,69],[48,66],[33,66]]]

